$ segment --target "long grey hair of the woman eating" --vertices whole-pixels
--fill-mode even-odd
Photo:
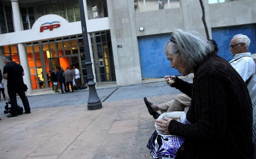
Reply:
[[[164,51],[170,55],[178,55],[181,60],[187,63],[188,68],[193,69],[211,55],[214,50],[210,42],[196,34],[196,32],[189,33],[181,29],[174,30],[172,38],[176,44],[169,40],[164,46]]]

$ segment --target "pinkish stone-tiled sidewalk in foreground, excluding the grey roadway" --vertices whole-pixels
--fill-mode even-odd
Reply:
[[[175,95],[148,98],[168,101]],[[154,119],[143,99],[36,108],[31,114],[2,117],[1,159],[144,159]]]

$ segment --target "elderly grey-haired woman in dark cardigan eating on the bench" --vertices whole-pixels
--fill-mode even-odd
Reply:
[[[212,44],[191,33],[175,30],[164,50],[172,68],[178,69],[182,76],[194,73],[195,77],[192,84],[177,76],[171,76],[175,82],[169,83],[169,76],[165,76],[171,87],[191,97],[191,103],[186,115],[189,123],[165,117],[156,119],[157,129],[164,135],[183,138],[175,154],[162,156],[175,159],[253,158],[252,102],[241,76],[226,60],[212,54]],[[166,139],[153,137],[154,134],[148,146],[153,158],[161,158],[159,152],[168,147],[161,145]],[[152,152],[152,143],[160,145],[155,147],[155,152]],[[173,144],[172,141],[169,144]]]

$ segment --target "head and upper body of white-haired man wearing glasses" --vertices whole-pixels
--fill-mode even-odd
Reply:
[[[255,73],[255,63],[248,52],[251,40],[243,34],[235,35],[230,41],[229,51],[234,58],[229,62],[246,82]]]

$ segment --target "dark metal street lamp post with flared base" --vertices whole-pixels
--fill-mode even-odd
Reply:
[[[87,68],[87,79],[88,79],[87,85],[89,86],[89,98],[87,102],[87,109],[96,110],[96,109],[102,108],[102,104],[95,89],[96,83],[93,81],[94,77],[92,72],[92,61],[91,61],[91,55],[90,55],[90,49],[89,49],[83,0],[79,0],[79,10],[80,10],[83,42],[84,42],[85,60],[86,60],[85,65]]]

